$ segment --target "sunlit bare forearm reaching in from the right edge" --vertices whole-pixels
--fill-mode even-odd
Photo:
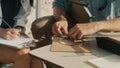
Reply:
[[[120,18],[115,18],[107,21],[96,22],[96,29],[108,31],[120,31]]]

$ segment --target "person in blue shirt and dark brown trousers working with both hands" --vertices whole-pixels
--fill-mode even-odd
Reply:
[[[53,15],[35,20],[31,31],[37,47],[52,43],[52,36],[82,39],[100,30],[120,31],[120,0],[54,0]]]

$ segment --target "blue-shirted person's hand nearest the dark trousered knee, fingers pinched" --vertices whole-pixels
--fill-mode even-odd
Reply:
[[[68,35],[68,22],[66,20],[57,21],[52,27],[53,34],[57,36]]]

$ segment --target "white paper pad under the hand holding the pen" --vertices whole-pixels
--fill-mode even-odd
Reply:
[[[27,38],[27,37],[23,37],[23,36],[18,37],[14,40],[6,40],[6,39],[0,37],[0,44],[2,44],[4,46],[17,48],[17,49],[31,46],[31,45],[33,45],[33,43],[34,43],[33,38]]]

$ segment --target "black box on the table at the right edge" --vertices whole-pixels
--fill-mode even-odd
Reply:
[[[98,47],[112,52],[114,54],[120,55],[120,43],[110,39],[108,37],[97,37],[97,45]]]

